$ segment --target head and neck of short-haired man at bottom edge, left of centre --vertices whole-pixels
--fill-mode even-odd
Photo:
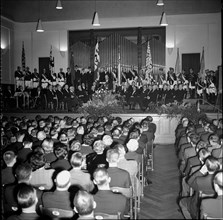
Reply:
[[[74,211],[79,215],[77,220],[95,219],[94,210],[97,204],[94,201],[93,195],[86,191],[79,190],[74,197],[73,203]]]

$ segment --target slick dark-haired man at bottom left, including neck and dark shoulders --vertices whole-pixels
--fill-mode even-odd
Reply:
[[[36,206],[38,202],[38,197],[36,194],[36,190],[29,184],[20,183],[18,185],[17,192],[17,201],[18,206],[21,208],[21,213],[11,215],[7,218],[7,220],[40,220],[47,219],[40,217],[36,213]]]

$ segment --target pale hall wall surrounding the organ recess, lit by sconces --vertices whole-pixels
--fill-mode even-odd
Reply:
[[[204,46],[205,69],[216,70],[221,65],[221,14],[189,14],[168,16],[169,25],[166,28],[166,70],[175,67],[177,47],[182,53],[201,53]],[[104,18],[100,19],[100,28],[125,28],[125,27],[150,27],[158,26],[160,17],[129,17],[129,18]],[[22,41],[25,44],[26,65],[38,68],[39,57],[49,57],[50,47],[53,48],[55,58],[55,71],[68,66],[68,30],[92,29],[91,20],[44,22],[44,33],[35,32],[36,23],[14,23],[13,35],[10,39],[13,45],[12,53],[15,54],[10,65],[8,77],[2,77],[2,83],[14,82],[13,73],[21,65]],[[60,50],[65,52],[60,53]],[[10,77],[9,77],[10,75]]]

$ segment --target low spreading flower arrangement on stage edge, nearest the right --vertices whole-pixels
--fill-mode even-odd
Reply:
[[[196,124],[198,123],[199,118],[207,117],[200,109],[198,111],[196,104],[184,102],[181,105],[177,103],[161,105],[156,107],[155,111],[159,115],[167,114],[167,118],[187,117],[190,121]]]

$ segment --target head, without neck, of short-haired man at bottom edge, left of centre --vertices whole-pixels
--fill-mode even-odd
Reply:
[[[74,197],[74,207],[81,216],[91,214],[95,208],[93,195],[79,190]]]

